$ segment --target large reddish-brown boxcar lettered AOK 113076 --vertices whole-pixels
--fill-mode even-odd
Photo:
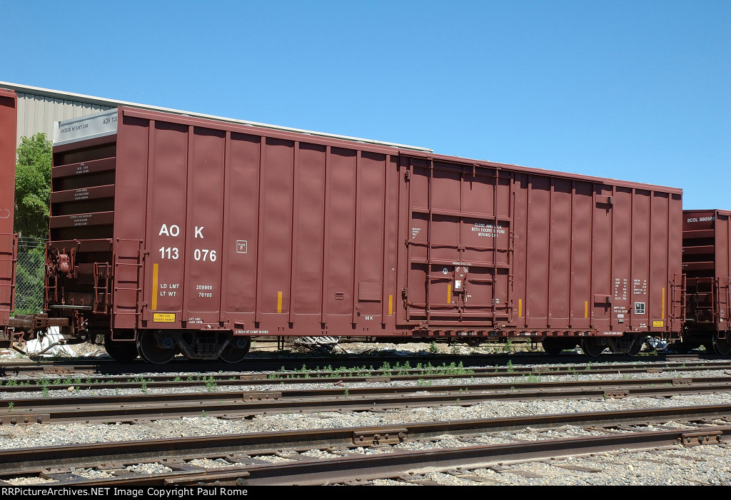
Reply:
[[[634,351],[681,327],[681,196],[120,107],[58,126],[47,306],[156,362],[261,335]]]

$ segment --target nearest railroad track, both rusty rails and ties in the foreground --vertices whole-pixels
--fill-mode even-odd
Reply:
[[[731,405],[707,405],[23,448],[0,451],[0,483],[37,475],[57,486],[364,484],[382,478],[425,484],[428,479],[420,471],[426,469],[459,468],[457,473],[463,477],[477,477],[470,473],[472,469],[500,469],[523,461],[620,449],[719,445],[731,436],[730,418]],[[681,420],[686,428],[646,427],[669,420]],[[504,431],[566,426],[587,428],[594,434],[488,445],[474,439]],[[459,436],[461,446],[398,449],[408,442],[440,439],[445,433]],[[382,453],[357,453],[368,447]],[[300,453],[303,450],[326,450],[330,458],[308,458]],[[270,455],[286,461],[264,460]],[[201,458],[227,465],[205,468],[189,463]],[[168,472],[129,471],[129,466],[149,461],[163,464]],[[107,477],[89,479],[75,473],[85,467]]]

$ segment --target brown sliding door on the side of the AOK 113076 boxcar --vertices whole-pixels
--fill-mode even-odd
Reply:
[[[510,322],[512,174],[403,156],[401,169],[405,320],[443,329]]]

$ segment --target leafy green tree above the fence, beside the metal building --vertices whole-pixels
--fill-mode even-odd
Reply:
[[[48,238],[50,170],[53,147],[45,134],[22,137],[15,166],[15,231]]]

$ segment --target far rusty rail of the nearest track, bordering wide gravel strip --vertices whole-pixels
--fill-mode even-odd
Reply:
[[[167,457],[162,462],[166,465],[175,464],[176,459],[179,463],[181,458],[191,457],[227,457],[251,462],[252,455],[276,450],[368,447],[442,434],[471,436],[525,428],[633,426],[668,420],[706,423],[730,418],[731,404],[718,404],[15,448],[0,450],[0,477],[38,474],[48,469],[64,472],[59,468],[70,466],[80,468],[103,464],[109,469],[132,462],[157,461],[161,456]],[[676,434],[688,432],[675,429]]]

